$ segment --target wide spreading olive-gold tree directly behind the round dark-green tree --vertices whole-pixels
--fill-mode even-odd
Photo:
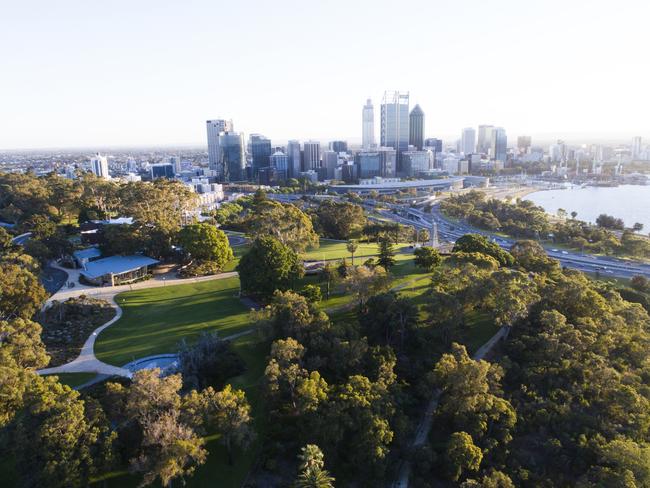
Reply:
[[[255,206],[247,226],[254,238],[273,236],[295,252],[318,247],[311,219],[295,205],[263,201]]]

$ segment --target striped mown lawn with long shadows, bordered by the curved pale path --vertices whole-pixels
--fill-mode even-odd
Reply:
[[[239,278],[148,288],[116,297],[122,318],[95,343],[100,360],[122,366],[152,354],[173,353],[181,339],[194,341],[201,332],[222,337],[249,324],[248,309],[236,298]]]

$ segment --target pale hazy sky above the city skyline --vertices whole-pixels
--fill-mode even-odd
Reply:
[[[385,90],[427,137],[650,138],[649,19],[648,0],[0,0],[0,149],[204,145],[211,118],[354,142]]]

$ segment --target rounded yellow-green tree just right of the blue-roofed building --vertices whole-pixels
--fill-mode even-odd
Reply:
[[[178,237],[183,251],[191,259],[214,262],[220,270],[234,257],[228,237],[214,225],[186,225]]]

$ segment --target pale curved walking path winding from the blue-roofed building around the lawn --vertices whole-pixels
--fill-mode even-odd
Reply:
[[[70,271],[74,271],[74,270],[70,270]],[[155,288],[155,287],[167,286],[167,285],[173,286],[173,285],[180,285],[180,284],[187,284],[187,283],[199,283],[202,281],[211,281],[211,280],[222,280],[225,278],[231,278],[233,276],[237,276],[237,272],[233,271],[233,272],[220,273],[211,276],[201,276],[198,278],[152,279],[148,281],[141,281],[139,283],[133,283],[131,285],[120,285],[120,286],[100,287],[100,288],[85,287],[81,285],[79,288],[75,286],[74,288],[59,290],[57,293],[55,293],[48,299],[48,301],[44,305],[44,308],[48,307],[54,300],[65,301],[68,300],[69,298],[77,297],[80,295],[87,295],[87,296],[93,296],[96,298],[106,300],[115,309],[116,314],[115,317],[113,317],[111,320],[109,320],[105,324],[101,325],[100,327],[92,331],[88,339],[86,339],[86,342],[84,342],[84,345],[81,348],[81,352],[79,353],[79,356],[77,356],[76,359],[70,361],[69,363],[62,364],[61,366],[41,369],[38,371],[38,373],[42,375],[60,374],[60,373],[97,373],[101,375],[122,376],[125,378],[130,378],[133,373],[129,371],[127,368],[120,368],[118,366],[107,364],[103,361],[100,361],[95,356],[95,341],[97,340],[97,336],[104,329],[110,327],[122,317],[122,308],[115,301],[116,295],[131,290],[141,290],[146,288]],[[70,275],[70,277],[72,278],[72,275]],[[252,330],[244,331],[244,333],[250,333],[250,332],[252,332]],[[233,334],[233,336],[244,335],[244,333],[240,332],[239,334]],[[227,337],[226,339],[229,339],[233,336]]]

